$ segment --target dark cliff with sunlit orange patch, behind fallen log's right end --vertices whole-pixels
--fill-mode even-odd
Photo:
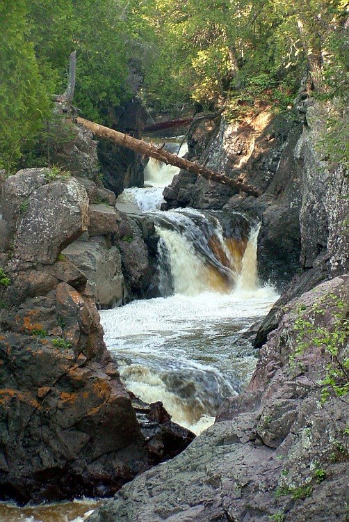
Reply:
[[[200,157],[209,168],[252,183],[263,191],[259,198],[239,195],[234,189],[181,171],[164,191],[168,207],[190,205],[199,209],[242,212],[261,221],[258,259],[263,281],[284,290],[299,268],[300,175],[293,157],[302,126],[261,110],[242,124],[223,118],[211,132]],[[190,136],[191,153],[202,142],[202,129]]]

